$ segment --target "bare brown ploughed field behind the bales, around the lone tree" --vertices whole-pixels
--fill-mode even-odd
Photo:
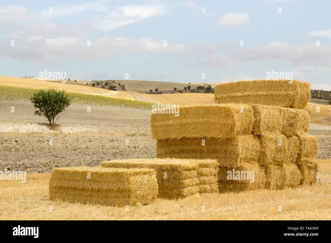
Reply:
[[[88,113],[86,105],[72,104],[58,120],[66,126],[50,131],[39,125],[47,121],[33,114],[31,103],[0,104],[0,170],[46,173],[54,167],[99,166],[105,160],[156,157],[149,110],[92,106]],[[330,159],[331,126],[312,123],[309,133],[318,136],[317,158]]]

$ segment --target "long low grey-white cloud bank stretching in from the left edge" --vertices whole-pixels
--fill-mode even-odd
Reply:
[[[16,42],[16,38],[14,38]],[[5,48],[8,43],[0,46],[0,56],[10,59],[43,61],[58,63],[64,60],[102,61],[109,60],[121,53],[176,53],[185,50],[183,44],[163,46],[163,41],[152,38],[133,40],[124,37],[105,36],[91,40],[81,36],[46,38],[44,36],[20,36],[19,45]],[[17,42],[16,42],[17,43]]]

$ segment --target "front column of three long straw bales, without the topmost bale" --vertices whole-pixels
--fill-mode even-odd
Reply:
[[[252,135],[252,106],[212,104],[180,107],[179,110],[177,117],[165,112],[151,115],[158,158],[215,159],[219,167],[218,184],[226,184],[227,190],[264,187],[264,168],[258,164],[260,141]],[[246,179],[246,174],[245,178],[233,175],[227,179],[229,171],[238,170],[247,172],[247,177],[253,176],[253,180]],[[219,187],[222,191],[224,188]]]

